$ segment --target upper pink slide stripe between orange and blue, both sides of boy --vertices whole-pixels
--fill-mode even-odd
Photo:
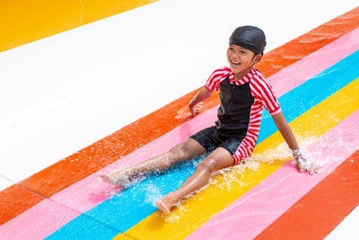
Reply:
[[[328,46],[269,77],[268,80],[273,83],[276,93],[282,95],[353,53],[355,49],[359,48],[358,37],[359,29],[351,31],[342,38],[328,44]],[[179,128],[173,129],[161,138],[157,138],[146,146],[139,148],[130,155],[122,157],[99,172],[110,172],[118,168],[138,164],[149,157],[156,156],[175,144],[184,141],[189,135],[198,130],[213,125],[215,120],[216,108],[213,108]],[[66,210],[56,212],[46,210],[54,207],[53,204],[50,204],[52,203],[51,201],[44,200],[22,213],[22,215],[2,225],[0,227],[1,235],[8,236],[4,237],[4,239],[9,238],[9,236],[11,236],[11,239],[23,239],[22,232],[39,231],[39,238],[43,238],[52,234],[59,227],[66,225],[80,213],[92,209],[102,201],[109,199],[115,191],[119,190],[114,190],[113,186],[100,182],[97,177],[98,173],[93,173],[51,197],[52,200],[57,200],[78,210],[77,213],[67,214]],[[46,219],[47,226],[43,228],[41,221],[38,219]],[[31,223],[31,225],[24,224],[26,222]],[[39,229],[42,230],[40,231]]]

